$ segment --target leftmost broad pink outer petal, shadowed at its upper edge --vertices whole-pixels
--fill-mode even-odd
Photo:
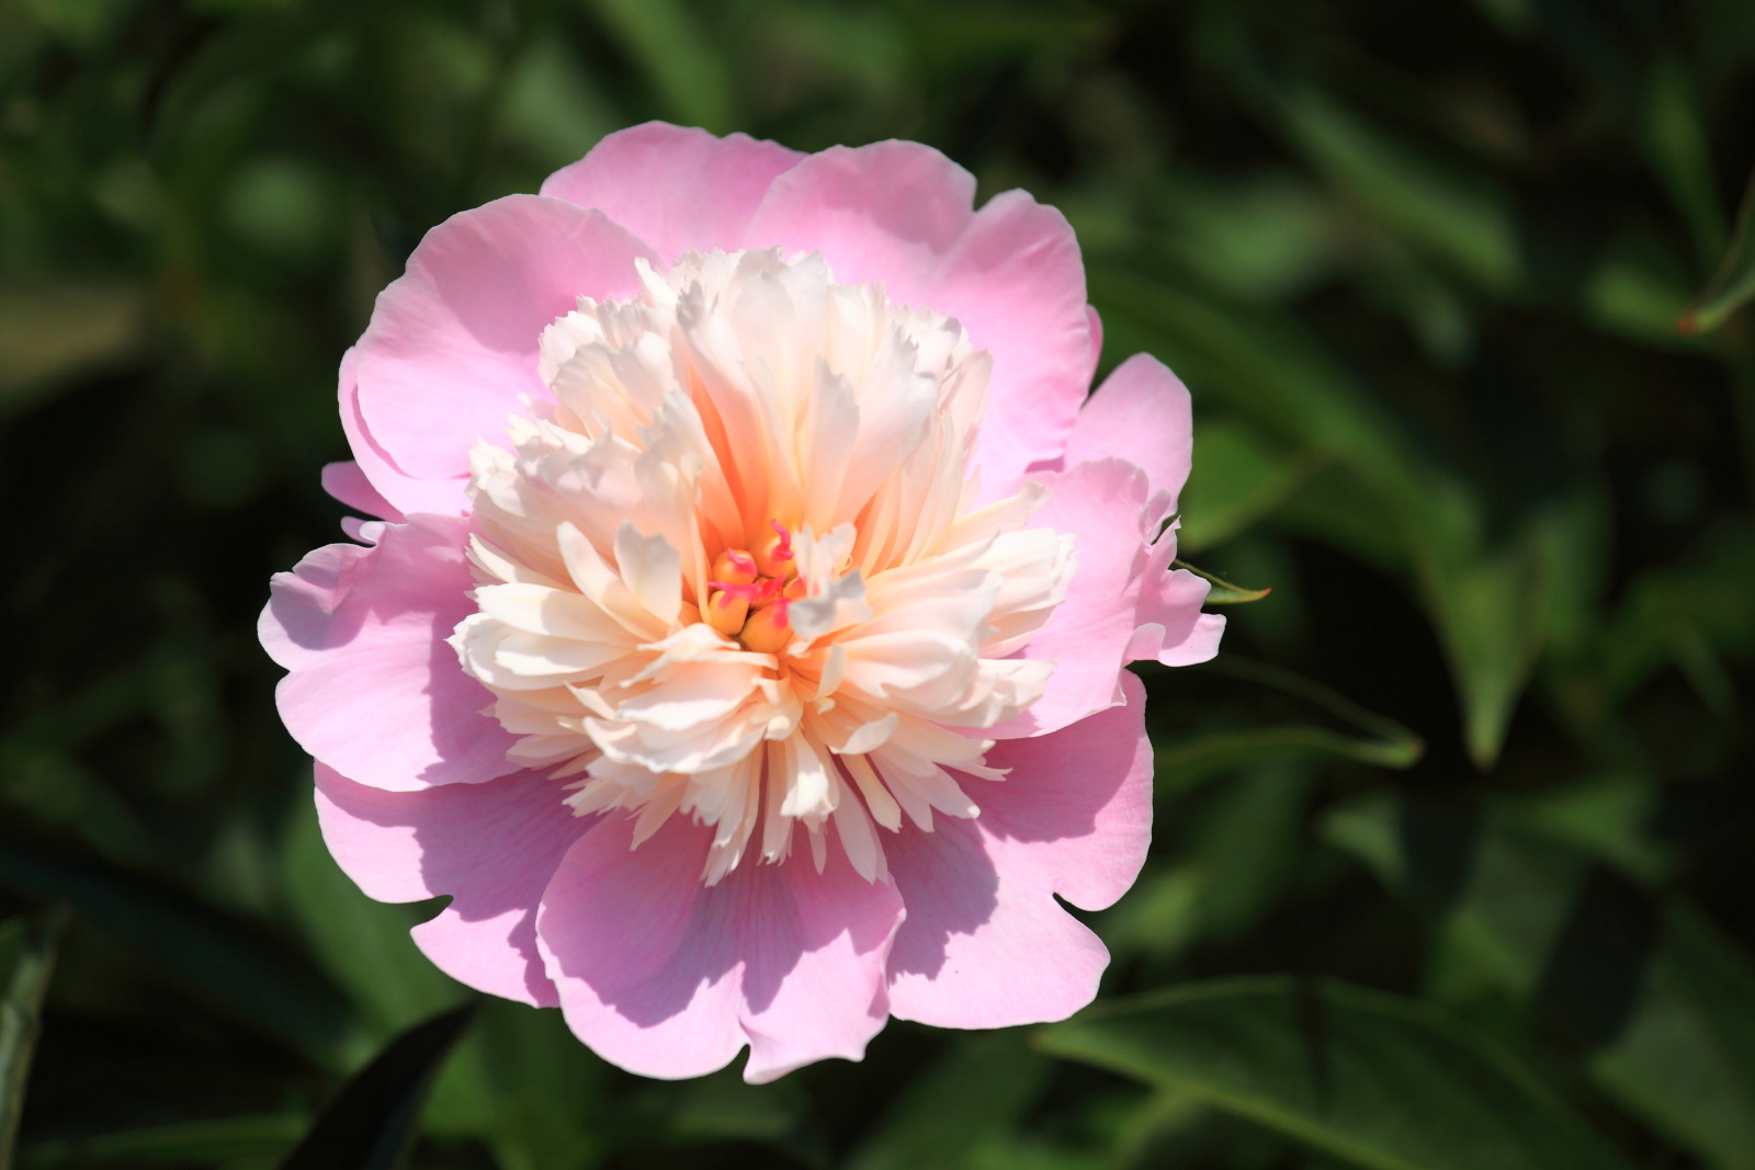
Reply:
[[[291,674],[276,698],[300,747],[372,788],[414,791],[514,770],[491,696],[444,639],[474,607],[460,519],[384,524],[276,574],[258,633]]]

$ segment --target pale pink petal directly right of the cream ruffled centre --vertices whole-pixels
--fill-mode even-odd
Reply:
[[[1030,523],[1074,533],[1078,568],[1065,600],[1021,653],[1055,663],[1048,689],[1020,717],[988,731],[997,738],[1042,735],[1120,703],[1121,665],[1139,624],[1146,475],[1132,463],[1104,460],[1034,479],[1051,495]]]

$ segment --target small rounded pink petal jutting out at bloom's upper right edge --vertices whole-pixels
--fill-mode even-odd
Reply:
[[[1151,354],[1134,354],[1104,379],[1079,410],[1065,467],[1121,458],[1146,472],[1151,495],[1169,493],[1165,512],[1188,482],[1193,417],[1188,388]]]

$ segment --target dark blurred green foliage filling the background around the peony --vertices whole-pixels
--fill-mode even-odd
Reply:
[[[1272,593],[1144,672],[1099,1009],[749,1088],[488,1002],[412,1165],[1755,1165],[1755,5],[0,0],[19,1166],[277,1165],[479,998],[328,861],[253,619],[421,232],[648,118],[1062,207]]]

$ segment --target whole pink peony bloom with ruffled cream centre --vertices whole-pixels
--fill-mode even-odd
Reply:
[[[907,142],[646,125],[433,228],[340,367],[376,519],[261,640],[335,860],[604,1058],[746,1079],[1060,1019],[1132,884],[1188,395],[1086,398],[1067,221]],[[1171,526],[1174,528],[1174,524]]]

